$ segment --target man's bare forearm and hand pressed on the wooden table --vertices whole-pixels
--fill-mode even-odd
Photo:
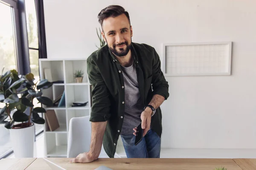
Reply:
[[[71,162],[87,163],[87,162],[92,162],[99,158],[106,125],[107,125],[107,121],[92,122],[90,151],[85,153],[80,153],[76,158],[71,159],[70,160]]]

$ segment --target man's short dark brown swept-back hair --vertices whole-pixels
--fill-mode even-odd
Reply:
[[[126,17],[129,20],[129,23],[131,25],[131,21],[130,21],[130,17],[127,11],[125,11],[125,8],[123,8],[122,6],[118,6],[118,5],[111,5],[108,6],[104,9],[102,9],[100,11],[100,13],[98,14],[98,19],[99,19],[99,23],[102,26],[103,20],[105,20],[108,17],[117,17],[121,14],[125,14]]]

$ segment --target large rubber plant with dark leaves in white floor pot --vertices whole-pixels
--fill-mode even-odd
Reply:
[[[7,71],[0,75],[0,124],[10,129],[10,138],[15,157],[33,157],[35,127],[34,123],[44,124],[45,120],[38,113],[45,113],[41,107],[35,107],[33,100],[52,106],[52,100],[42,96],[42,89],[52,86],[47,79],[34,83],[34,75],[19,75],[17,71]],[[26,114],[27,113],[27,114]],[[8,119],[9,118],[9,119]],[[7,120],[6,120],[7,119]]]

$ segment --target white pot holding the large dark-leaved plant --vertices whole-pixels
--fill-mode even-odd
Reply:
[[[35,125],[10,130],[10,137],[15,158],[33,158]],[[17,125],[15,125],[17,126]]]

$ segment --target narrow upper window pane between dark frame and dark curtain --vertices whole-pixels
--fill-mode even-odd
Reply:
[[[26,21],[30,48],[38,48],[38,28],[35,13],[35,0],[25,0]]]

